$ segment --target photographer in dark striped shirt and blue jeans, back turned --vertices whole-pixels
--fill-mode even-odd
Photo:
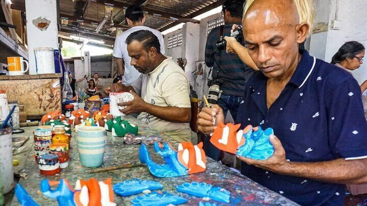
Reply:
[[[213,67],[212,80],[208,82],[210,87],[208,101],[212,104],[217,103],[217,95],[222,91],[218,104],[223,108],[225,116],[229,110],[234,119],[243,100],[246,82],[254,70],[246,66],[236,54],[226,53],[226,42],[221,37],[230,36],[232,25],[241,23],[244,2],[244,0],[226,0],[223,3],[222,15],[225,25],[211,30],[205,48],[205,63],[208,67]],[[241,29],[237,29],[235,33],[237,35],[234,37],[241,41]],[[220,151],[207,139],[205,141],[207,155],[216,161],[220,160]]]

